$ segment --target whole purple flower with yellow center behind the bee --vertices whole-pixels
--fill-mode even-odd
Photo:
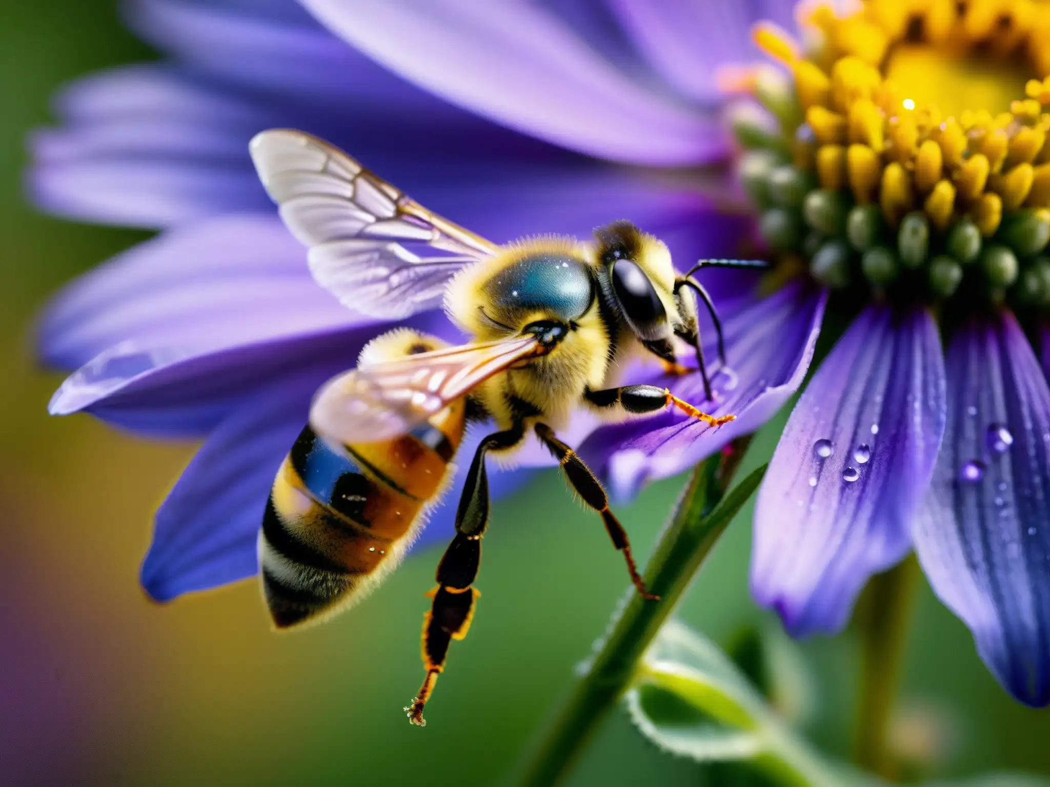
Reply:
[[[1050,175],[1033,165],[1046,161],[1043,137],[1025,131],[1045,123],[1045,83],[1026,95],[1004,87],[1015,112],[1006,126],[981,106],[941,113],[924,97],[953,75],[931,71],[936,59],[917,70],[891,44],[908,35],[936,54],[943,19],[895,16],[892,3],[843,18],[818,9],[805,47],[763,27],[757,39],[786,69],[735,71],[719,68],[755,59],[751,25],[789,26],[791,3],[304,5],[342,41],[285,3],[136,3],[138,29],[173,63],[80,83],[59,107],[63,130],[37,141],[42,204],[172,228],[75,285],[42,331],[49,360],[87,364],[57,395],[61,411],[211,434],[162,508],[147,587],[169,597],[254,570],[245,545],[258,517],[234,528],[230,512],[261,507],[310,392],[383,327],[308,293],[302,254],[248,165],[254,131],[329,139],[496,241],[583,234],[624,216],[685,265],[749,240],[749,222],[702,196],[735,190],[698,169],[730,152],[717,84],[733,83],[758,100],[732,102],[730,116],[775,270],[761,281],[707,274],[728,340],[714,402],[701,401],[696,376],[628,375],[738,420],[718,430],[673,414],[607,426],[582,451],[628,495],[753,430],[798,387],[826,307],[848,327],[799,399],[759,493],[756,597],[795,634],[834,632],[866,579],[915,548],[1004,685],[1050,702],[1050,390],[1013,317],[1037,328],[1050,303],[1040,254]],[[962,21],[967,57],[1015,50],[1033,75],[1047,70],[1042,28],[1000,42],[1011,25]],[[187,250],[195,273],[171,261]],[[251,293],[276,278],[301,295],[255,309]],[[224,285],[228,301],[209,307]],[[421,319],[441,331],[442,318]],[[293,411],[278,433],[272,413]],[[267,435],[258,450],[273,463],[224,502],[212,485],[234,467],[222,448],[240,435]],[[264,464],[248,453],[246,464]]]

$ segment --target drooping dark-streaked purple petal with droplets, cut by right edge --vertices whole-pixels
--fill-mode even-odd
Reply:
[[[1011,314],[947,358],[948,428],[912,536],[933,591],[1004,687],[1050,704],[1050,389]]]

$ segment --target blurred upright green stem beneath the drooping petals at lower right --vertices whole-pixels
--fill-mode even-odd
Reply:
[[[908,619],[919,576],[909,556],[872,579],[859,611],[861,677],[857,717],[858,765],[892,780],[896,763],[887,746],[907,640]]]

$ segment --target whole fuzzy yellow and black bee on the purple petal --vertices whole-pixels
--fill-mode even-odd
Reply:
[[[634,354],[677,366],[674,340],[696,349],[707,397],[697,296],[667,247],[627,221],[592,242],[545,236],[497,246],[427,211],[342,151],[301,131],[264,131],[250,145],[259,178],[288,229],[309,249],[316,280],[351,309],[401,319],[444,306],[470,341],[400,327],[323,385],[277,472],[259,534],[264,595],[275,625],[320,620],[360,600],[392,571],[448,484],[468,424],[495,422],[470,461],[456,535],[438,566],[422,633],[423,708],[450,641],[477,605],[474,588],[488,524],[488,454],[509,455],[529,432],[597,512],[647,598],[623,526],[601,483],[558,430],[578,407],[630,417],[676,407],[714,418],[667,388],[612,385]],[[715,261],[735,264],[735,261]],[[702,264],[702,263],[701,263]]]

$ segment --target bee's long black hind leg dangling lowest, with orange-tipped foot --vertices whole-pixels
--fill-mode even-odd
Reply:
[[[413,724],[426,724],[423,706],[434,690],[438,675],[445,667],[448,645],[452,640],[466,636],[477,598],[481,595],[472,586],[481,565],[481,537],[488,524],[485,454],[492,449],[517,445],[524,433],[524,427],[518,424],[506,431],[489,434],[481,441],[467,470],[456,511],[456,537],[438,563],[438,587],[426,594],[433,599],[430,611],[423,617],[422,655],[426,677],[412,704],[404,708]]]

